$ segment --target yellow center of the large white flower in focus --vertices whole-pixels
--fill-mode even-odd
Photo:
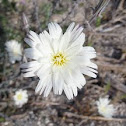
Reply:
[[[52,61],[53,65],[63,66],[66,63],[67,59],[63,53],[58,52],[55,55],[53,55]]]

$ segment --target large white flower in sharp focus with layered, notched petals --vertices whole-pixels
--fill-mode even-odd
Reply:
[[[31,47],[25,50],[27,58],[34,61],[25,63],[21,68],[25,77],[38,76],[40,81],[35,92],[44,92],[47,97],[51,89],[55,94],[65,92],[68,99],[77,96],[86,80],[83,74],[96,78],[97,65],[90,59],[96,57],[93,47],[83,47],[85,34],[83,28],[70,24],[63,34],[57,23],[49,23],[49,33],[39,35],[30,31],[25,42]]]

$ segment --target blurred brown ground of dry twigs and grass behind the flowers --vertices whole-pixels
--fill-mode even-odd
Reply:
[[[126,119],[126,1],[110,0],[101,15],[95,15],[98,3],[99,0],[0,0],[0,126],[126,126],[121,121],[84,118],[99,116],[96,101],[108,95],[117,108],[114,116]],[[98,77],[86,76],[87,84],[73,100],[53,92],[47,98],[36,95],[38,78],[23,78],[23,61],[11,64],[5,50],[10,40],[26,48],[28,28],[40,33],[52,21],[64,31],[71,22],[82,25],[85,45],[93,46],[97,52],[94,62]],[[13,100],[19,89],[28,92],[28,102],[20,108]]]

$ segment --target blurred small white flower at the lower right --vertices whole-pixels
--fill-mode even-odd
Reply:
[[[110,100],[108,97],[99,98],[99,101],[96,102],[99,114],[106,118],[112,118],[116,110],[114,106],[109,103]]]

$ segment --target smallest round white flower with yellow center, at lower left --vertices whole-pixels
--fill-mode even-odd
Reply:
[[[28,94],[26,90],[18,90],[13,96],[15,105],[22,107],[28,101]]]

